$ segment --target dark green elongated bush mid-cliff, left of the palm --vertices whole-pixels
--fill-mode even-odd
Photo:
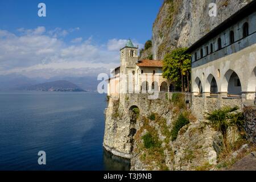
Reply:
[[[172,141],[176,140],[180,129],[183,126],[188,125],[188,123],[189,123],[188,118],[185,117],[185,115],[183,113],[181,113],[179,115],[179,117],[176,119],[176,121],[174,122],[174,126],[172,127],[172,130],[171,130],[171,140]]]

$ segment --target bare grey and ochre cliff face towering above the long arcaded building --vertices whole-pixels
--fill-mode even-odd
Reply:
[[[176,47],[189,47],[251,0],[216,0],[217,16],[209,16],[211,0],[166,0],[152,32],[153,59]]]

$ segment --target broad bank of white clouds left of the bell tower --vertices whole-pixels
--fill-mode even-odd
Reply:
[[[79,28],[73,29],[76,30]],[[61,31],[46,31],[44,27],[33,30],[20,28],[19,32],[23,34],[15,35],[0,30],[0,75],[85,76],[108,73],[119,65],[119,48],[126,40],[112,39],[104,45],[97,45],[92,43],[92,37],[84,42],[82,38],[76,38],[72,42],[80,44],[69,45],[59,38]]]

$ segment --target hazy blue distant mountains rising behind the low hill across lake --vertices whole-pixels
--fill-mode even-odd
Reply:
[[[28,88],[30,86],[43,84],[45,82],[55,82],[65,80],[72,82],[82,90],[95,91],[100,81],[97,81],[97,76],[84,77],[52,77],[52,78],[28,78],[23,75],[10,74],[0,75],[0,90],[20,90],[20,88]]]

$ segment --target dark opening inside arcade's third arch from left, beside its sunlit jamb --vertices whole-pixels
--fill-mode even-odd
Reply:
[[[230,69],[226,72],[225,77],[228,82],[228,96],[241,97],[242,86],[237,73]]]

